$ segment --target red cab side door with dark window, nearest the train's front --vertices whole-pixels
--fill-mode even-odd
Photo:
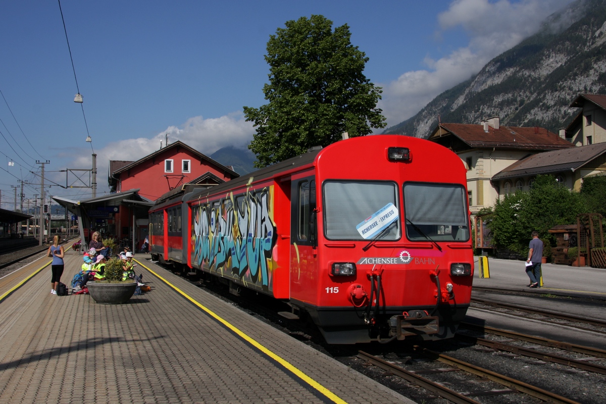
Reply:
[[[315,301],[318,282],[316,247],[316,180],[315,177],[291,182],[290,295],[302,301]]]

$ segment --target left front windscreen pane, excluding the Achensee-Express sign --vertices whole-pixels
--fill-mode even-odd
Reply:
[[[398,187],[388,181],[327,180],[323,185],[324,234],[330,240],[364,240],[358,225],[370,216],[398,203]],[[399,240],[400,220],[381,240]]]

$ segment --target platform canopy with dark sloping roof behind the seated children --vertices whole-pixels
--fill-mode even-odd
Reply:
[[[147,219],[147,211],[154,205],[153,200],[139,195],[139,190],[128,190],[83,200],[71,200],[61,196],[53,196],[53,199],[62,207],[78,216],[78,230],[83,242],[85,228],[92,228],[99,213],[118,213],[121,207],[127,207],[133,215],[133,219]],[[133,230],[134,231],[134,230]],[[135,237],[132,237],[134,242]],[[133,245],[133,251],[135,246]]]

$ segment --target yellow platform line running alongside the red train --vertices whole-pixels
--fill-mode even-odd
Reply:
[[[168,280],[164,279],[162,276],[160,276],[159,274],[155,273],[155,271],[151,270],[148,267],[145,267],[145,265],[143,265],[139,260],[135,260],[135,261],[137,263],[139,263],[139,265],[141,265],[141,267],[145,268],[146,270],[148,270],[152,274],[154,274],[156,277],[158,277],[159,279],[161,279],[162,282],[166,283],[168,286],[170,286],[171,288],[173,288],[174,290],[176,290],[179,294],[181,294],[183,297],[185,297],[185,299],[189,300],[191,303],[193,303],[194,305],[198,306],[198,308],[200,308],[201,310],[205,311],[209,316],[213,317],[215,320],[217,320],[218,322],[222,323],[228,329],[231,329],[231,331],[233,331],[239,337],[241,337],[242,339],[244,339],[246,342],[250,343],[250,345],[255,346],[255,348],[259,349],[259,351],[261,351],[262,353],[264,353],[265,355],[267,355],[271,359],[275,360],[280,365],[282,365],[285,368],[287,368],[289,371],[291,371],[293,374],[295,374],[297,377],[299,377],[299,379],[303,380],[305,383],[307,383],[308,385],[310,385],[312,388],[316,389],[316,391],[321,392],[322,394],[324,394],[325,397],[327,397],[328,399],[330,399],[331,401],[333,401],[335,403],[347,404],[347,402],[345,402],[344,400],[342,400],[341,398],[339,398],[338,396],[336,396],[336,394],[334,394],[329,389],[327,389],[324,386],[322,386],[320,383],[316,382],[316,380],[311,379],[311,377],[307,376],[307,374],[303,373],[301,370],[299,370],[298,368],[296,368],[296,366],[292,365],[290,362],[288,362],[287,360],[285,360],[281,356],[278,356],[278,354],[273,353],[272,351],[270,351],[270,349],[265,348],[264,345],[261,345],[261,343],[257,342],[255,339],[249,337],[243,331],[241,331],[240,329],[236,328],[236,326],[232,325],[227,320],[223,319],[218,314],[214,313],[212,310],[210,310],[206,306],[202,305],[201,303],[199,303],[198,301],[196,301],[195,299],[193,299],[193,297],[189,296],[187,293],[185,293],[184,291],[180,290],[177,286],[173,285],[172,283],[168,282]]]

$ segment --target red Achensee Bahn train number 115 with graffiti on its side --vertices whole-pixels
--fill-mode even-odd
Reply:
[[[441,145],[355,137],[169,195],[151,254],[285,300],[328,343],[447,338],[471,296],[465,184]]]

